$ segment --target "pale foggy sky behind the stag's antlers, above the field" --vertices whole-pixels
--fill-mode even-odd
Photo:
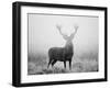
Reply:
[[[98,16],[28,14],[29,53],[47,53],[51,47],[63,47],[66,41],[59,34],[56,25],[62,25],[62,32],[70,35],[78,25],[73,40],[76,54],[98,51]]]

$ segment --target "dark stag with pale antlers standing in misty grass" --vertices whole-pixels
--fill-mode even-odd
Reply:
[[[75,34],[78,30],[78,26],[77,25],[74,26],[75,32],[72,33],[69,36],[62,33],[61,25],[56,25],[56,27],[58,29],[59,34],[66,41],[66,44],[64,47],[52,47],[48,49],[50,62],[48,62],[47,68],[50,67],[50,65],[52,65],[52,67],[53,67],[57,60],[64,62],[64,67],[66,68],[66,62],[68,60],[69,62],[69,69],[72,69],[72,58],[74,55],[74,45],[73,45],[72,41],[75,37]]]

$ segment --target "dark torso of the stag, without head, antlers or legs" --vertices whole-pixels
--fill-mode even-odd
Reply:
[[[67,44],[65,47],[53,47],[48,51],[50,59],[69,60],[73,57],[73,44]]]

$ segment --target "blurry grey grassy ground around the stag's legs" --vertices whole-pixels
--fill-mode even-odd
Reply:
[[[72,69],[69,70],[68,62],[66,69],[63,62],[57,62],[54,67],[47,68],[48,57],[44,54],[29,55],[28,75],[44,75],[44,74],[66,74],[66,73],[92,73],[98,71],[98,55],[82,55],[73,57]]]

